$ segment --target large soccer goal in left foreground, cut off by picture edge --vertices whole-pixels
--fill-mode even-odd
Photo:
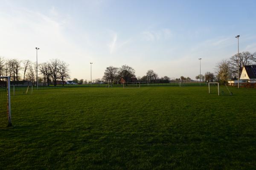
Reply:
[[[0,77],[0,126],[7,121],[12,126],[10,77]]]

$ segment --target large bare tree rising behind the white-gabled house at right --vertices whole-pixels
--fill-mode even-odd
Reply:
[[[250,52],[239,53],[239,77],[241,75],[244,65],[250,65],[250,60],[252,59],[252,54]],[[237,74],[238,69],[238,54],[230,57],[230,69],[232,70],[233,75]]]

